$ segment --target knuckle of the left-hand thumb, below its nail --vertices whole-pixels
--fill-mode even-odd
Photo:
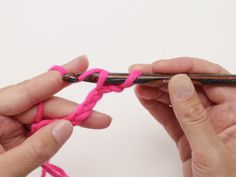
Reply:
[[[33,161],[42,163],[51,157],[50,153],[47,151],[48,145],[41,140],[32,141],[29,149],[29,154]]]

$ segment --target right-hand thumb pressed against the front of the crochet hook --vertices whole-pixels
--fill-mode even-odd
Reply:
[[[169,85],[171,103],[193,151],[206,152],[219,145],[220,138],[208,118],[191,80],[185,74],[175,75]]]

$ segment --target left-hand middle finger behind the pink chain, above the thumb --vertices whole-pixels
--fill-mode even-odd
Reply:
[[[44,117],[49,119],[65,117],[72,113],[77,107],[77,103],[59,97],[52,97],[44,104]],[[32,124],[35,120],[37,109],[38,106],[34,106],[26,112],[15,116],[15,118],[23,124]],[[110,116],[93,111],[81,126],[86,128],[101,129],[108,127],[110,123]]]

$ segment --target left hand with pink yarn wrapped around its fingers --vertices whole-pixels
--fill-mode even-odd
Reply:
[[[85,56],[64,65],[70,72],[87,69]],[[72,112],[77,104],[53,94],[63,89],[64,83],[57,71],[49,71],[29,81],[0,89],[0,176],[26,176],[49,160],[72,133],[69,121],[56,121],[27,137],[25,125],[36,117],[37,103],[45,101],[44,115],[61,117]],[[109,126],[109,116],[93,112],[83,123],[87,128]]]

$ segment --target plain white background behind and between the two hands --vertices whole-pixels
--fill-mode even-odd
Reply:
[[[91,68],[113,72],[194,56],[236,73],[235,17],[234,0],[0,0],[0,87],[81,54]],[[82,85],[58,95],[81,102],[91,89]],[[132,89],[105,96],[96,109],[110,114],[112,125],[77,127],[54,163],[72,177],[182,176],[175,144]]]

